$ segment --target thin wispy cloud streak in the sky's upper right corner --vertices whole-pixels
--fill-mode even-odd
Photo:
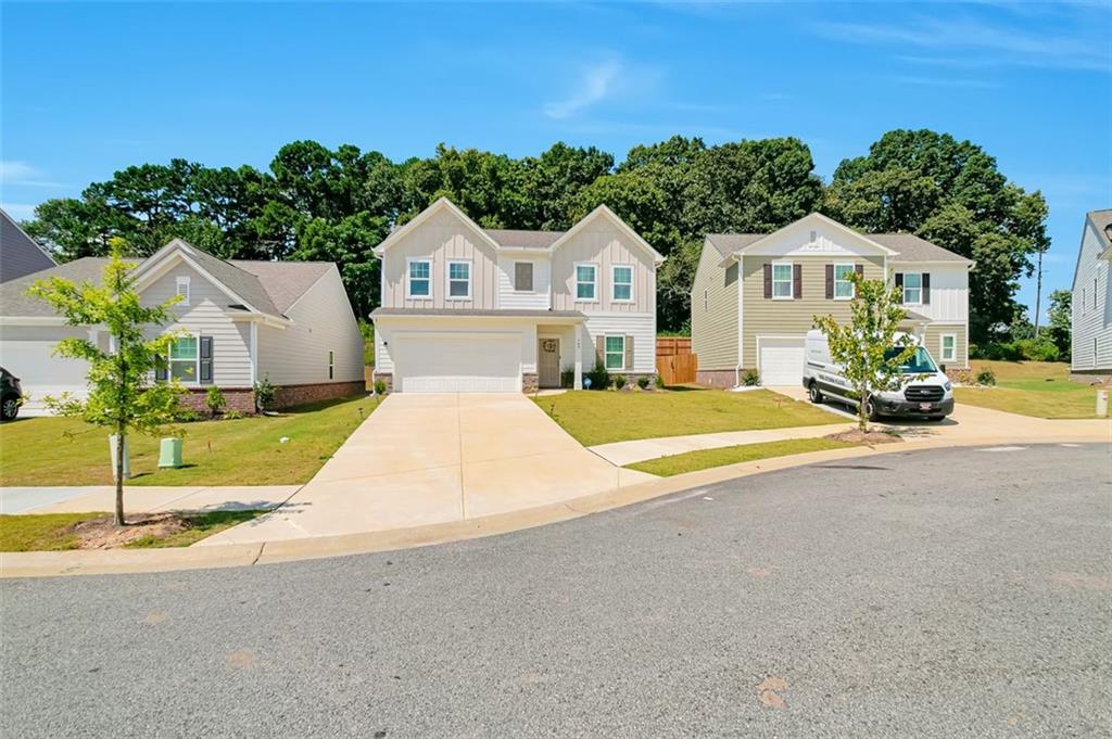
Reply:
[[[1112,58],[1103,36],[1083,38],[1081,34],[1034,33],[971,18],[930,17],[914,18],[901,24],[827,22],[816,26],[815,32],[851,43],[951,52],[962,50],[1015,66],[1112,72]],[[930,61],[930,58],[920,59]],[[951,53],[940,61],[952,60]]]

